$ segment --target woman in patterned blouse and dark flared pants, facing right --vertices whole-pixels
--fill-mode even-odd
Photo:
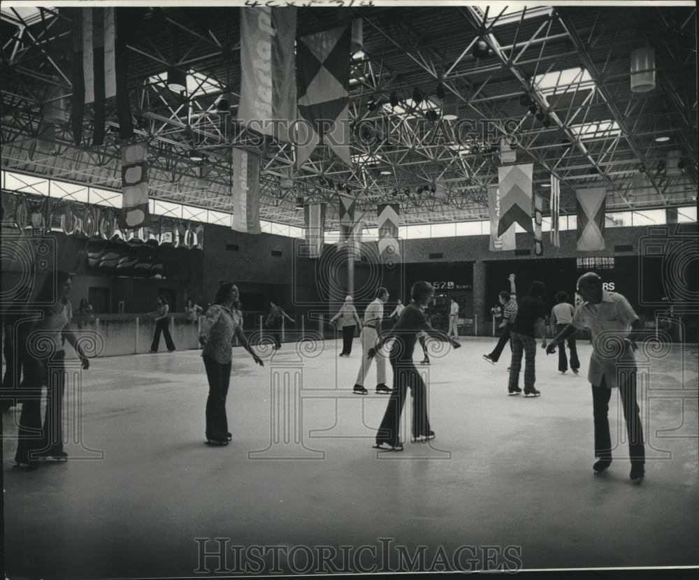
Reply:
[[[206,400],[206,442],[227,445],[231,440],[226,417],[226,395],[231,380],[231,345],[237,337],[241,345],[252,354],[260,366],[262,359],[252,351],[243,334],[243,313],[238,302],[238,287],[233,282],[222,282],[214,303],[208,307],[201,320],[199,342],[203,345],[209,396]]]

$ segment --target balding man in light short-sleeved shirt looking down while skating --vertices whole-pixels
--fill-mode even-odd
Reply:
[[[636,402],[636,361],[633,351],[641,322],[628,300],[616,292],[607,292],[602,280],[588,272],[577,281],[577,292],[583,303],[577,307],[572,322],[552,340],[547,354],[556,351],[576,330],[589,328],[592,333],[592,356],[588,380],[592,384],[592,406],[595,423],[595,473],[612,464],[612,440],[607,413],[612,389],[619,388],[619,397],[626,419],[628,451],[631,460],[630,479],[640,484],[645,470],[645,451],[640,413]],[[561,346],[561,348],[563,348]]]

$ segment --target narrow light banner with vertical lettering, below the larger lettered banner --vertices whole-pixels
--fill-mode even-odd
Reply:
[[[233,229],[261,233],[260,156],[233,147]]]

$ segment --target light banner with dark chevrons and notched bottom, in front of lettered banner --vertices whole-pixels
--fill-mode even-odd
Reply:
[[[531,225],[531,174],[533,164],[498,168],[500,177],[500,222],[498,235],[517,223],[533,234]]]

